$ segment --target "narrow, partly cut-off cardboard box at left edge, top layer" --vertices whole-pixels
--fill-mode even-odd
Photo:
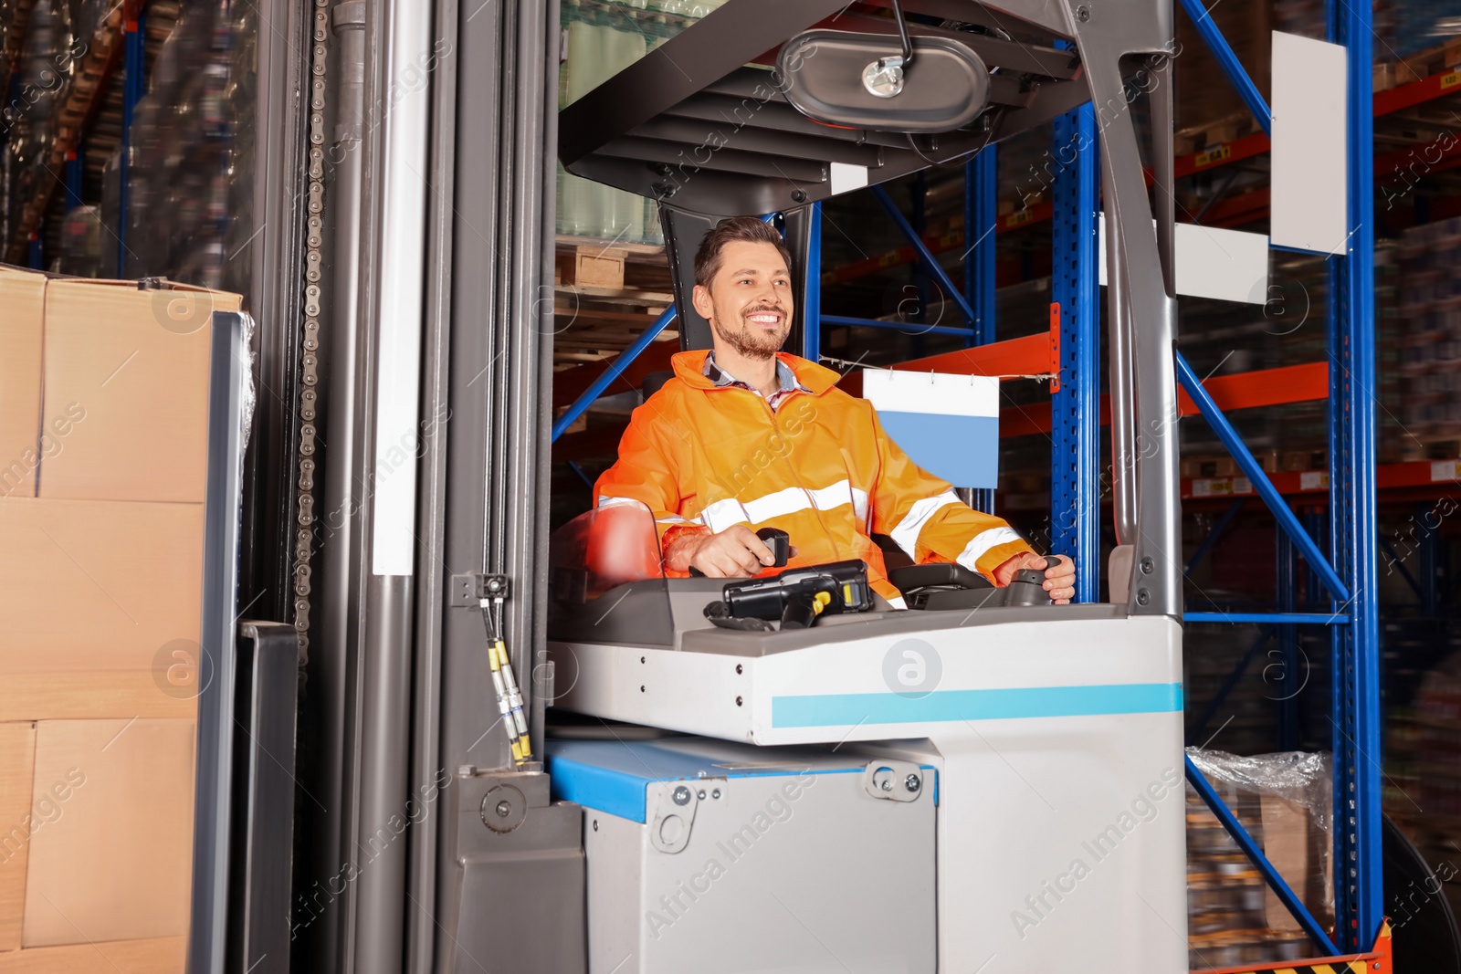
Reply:
[[[0,496],[35,496],[45,276],[0,267]]]

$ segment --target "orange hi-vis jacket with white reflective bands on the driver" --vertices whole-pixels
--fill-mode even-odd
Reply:
[[[830,368],[779,352],[806,391],[773,412],[748,388],[716,387],[706,356],[674,356],[675,378],[634,410],[618,463],[595,485],[596,507],[649,507],[662,548],[684,530],[779,527],[798,549],[789,567],[861,558],[872,587],[900,607],[871,534],[888,534],[915,562],[953,561],[988,578],[1031,551],[909,460],[872,403],[836,388]]]

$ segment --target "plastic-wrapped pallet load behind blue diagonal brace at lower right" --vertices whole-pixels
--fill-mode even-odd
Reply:
[[[1188,748],[1321,926],[1334,914],[1325,753],[1237,756]],[[1313,955],[1313,945],[1197,791],[1188,787],[1188,949],[1194,971]]]

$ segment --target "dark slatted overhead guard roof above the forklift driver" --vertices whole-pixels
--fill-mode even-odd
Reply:
[[[942,6],[961,20],[999,19],[973,3]],[[882,183],[928,168],[925,156],[967,155],[1088,98],[1064,51],[919,23],[915,35],[957,38],[1002,69],[991,79],[991,104],[1004,111],[972,131],[922,136],[919,149],[900,133],[820,126],[777,91],[795,77],[742,66],[824,18],[836,29],[891,31],[844,7],[735,0],[712,12],[562,111],[564,165],[690,212],[770,213],[830,196],[830,162],[869,166],[869,180]]]

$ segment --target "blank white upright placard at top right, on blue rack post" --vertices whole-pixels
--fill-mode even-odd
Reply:
[[[1349,245],[1347,64],[1338,44],[1274,31],[1268,232],[1278,247],[1343,254]]]

